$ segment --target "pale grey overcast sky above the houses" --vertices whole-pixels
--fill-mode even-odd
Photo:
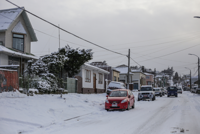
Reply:
[[[200,57],[200,0],[11,0],[26,10],[100,46],[128,54],[140,65],[158,71],[174,67],[179,74],[197,71]],[[0,1],[0,9],[15,6]],[[59,48],[58,29],[28,14],[38,41],[37,56]],[[44,34],[45,33],[45,34]],[[47,35],[48,34],[48,35]],[[51,36],[49,36],[51,35]],[[52,37],[54,36],[54,37]],[[60,31],[61,47],[92,49],[92,61],[115,67],[128,59]],[[90,61],[91,62],[91,61]],[[131,66],[137,65],[131,60]],[[197,72],[196,72],[197,75]]]

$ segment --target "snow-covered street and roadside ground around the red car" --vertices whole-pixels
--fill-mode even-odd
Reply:
[[[137,92],[134,92],[137,97]],[[12,97],[12,95],[10,95]],[[20,95],[18,95],[20,96]],[[200,133],[200,95],[136,101],[129,111],[104,110],[106,94],[6,97],[0,94],[1,134],[185,134]]]

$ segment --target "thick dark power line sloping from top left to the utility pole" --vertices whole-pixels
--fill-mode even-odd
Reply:
[[[102,47],[102,46],[100,46],[100,45],[97,45],[97,44],[95,44],[95,43],[93,43],[93,42],[91,42],[91,41],[89,41],[89,40],[86,40],[86,39],[84,39],[84,38],[82,38],[82,37],[80,37],[80,36],[78,36],[78,35],[76,35],[76,34],[73,34],[73,33],[69,32],[69,31],[67,31],[67,30],[65,30],[65,29],[63,29],[63,28],[61,28],[61,27],[59,27],[59,26],[57,26],[57,25],[55,25],[55,24],[53,24],[53,23],[51,23],[51,22],[49,22],[49,21],[47,21],[47,20],[45,20],[45,19],[43,19],[43,18],[37,16],[37,15],[35,15],[35,14],[33,14],[33,13],[31,13],[31,12],[29,12],[28,10],[19,7],[18,5],[16,5],[16,4],[10,2],[9,0],[6,0],[6,1],[9,2],[9,3],[11,3],[12,5],[15,5],[16,7],[18,7],[18,8],[20,8],[20,9],[26,11],[27,13],[29,13],[29,14],[35,16],[36,18],[39,18],[39,19],[45,21],[46,23],[48,23],[48,24],[50,24],[50,25],[52,25],[52,26],[54,26],[54,27],[56,27],[56,28],[58,28],[58,29],[60,29],[60,30],[62,30],[62,31],[64,31],[64,32],[68,33],[68,34],[71,34],[72,36],[75,36],[76,38],[79,38],[79,39],[81,39],[81,40],[83,40],[83,41],[85,41],[85,42],[88,42],[88,43],[90,43],[90,44],[92,44],[92,45],[94,45],[94,46],[97,46],[97,47],[99,47],[99,48],[105,49],[105,50],[107,50],[107,51],[110,51],[110,52],[113,52],[113,53],[116,53],[116,54],[119,54],[119,55],[124,55],[124,56],[126,56],[125,54],[122,54],[122,53],[115,52],[115,51],[113,51],[113,50],[107,49],[107,48]]]

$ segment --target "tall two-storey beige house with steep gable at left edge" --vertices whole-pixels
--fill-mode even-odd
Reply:
[[[31,42],[37,41],[28,15],[21,8],[0,10],[0,65],[19,65],[22,75],[31,54]]]

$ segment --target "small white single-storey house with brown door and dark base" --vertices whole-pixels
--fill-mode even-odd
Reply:
[[[104,76],[107,74],[109,72],[104,69],[84,63],[75,76],[78,79],[77,93],[104,93]]]

